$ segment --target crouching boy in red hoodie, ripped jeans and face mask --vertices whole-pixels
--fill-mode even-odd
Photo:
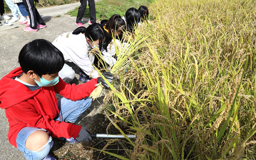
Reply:
[[[19,54],[20,67],[0,80],[0,108],[9,121],[9,142],[27,160],[55,160],[49,154],[52,137],[66,143],[92,140],[85,126],[74,125],[92,103],[88,98],[99,77],[87,83],[67,84],[58,77],[64,57],[44,39],[26,44]],[[111,83],[112,74],[103,73]],[[62,95],[57,101],[55,93]]]

